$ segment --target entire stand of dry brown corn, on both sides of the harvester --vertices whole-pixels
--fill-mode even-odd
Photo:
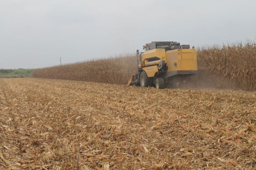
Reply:
[[[256,90],[256,45],[209,46],[197,49],[199,74],[187,78],[194,87]],[[134,54],[33,70],[35,78],[127,84],[137,72]]]

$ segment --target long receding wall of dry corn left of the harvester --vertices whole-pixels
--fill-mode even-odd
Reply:
[[[89,60],[37,69],[33,77],[126,84],[130,74],[137,68],[135,62],[134,55]]]

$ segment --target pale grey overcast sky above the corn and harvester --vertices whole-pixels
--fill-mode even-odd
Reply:
[[[0,68],[39,68],[142,50],[255,40],[255,0],[0,0]]]

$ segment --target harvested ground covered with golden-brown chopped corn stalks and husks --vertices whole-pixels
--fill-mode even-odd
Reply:
[[[255,169],[256,93],[0,79],[1,169]]]

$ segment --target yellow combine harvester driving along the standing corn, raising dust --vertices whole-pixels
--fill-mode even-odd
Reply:
[[[128,85],[165,88],[172,77],[197,74],[196,50],[179,42],[151,42],[143,46],[145,52],[137,50],[138,73]]]

